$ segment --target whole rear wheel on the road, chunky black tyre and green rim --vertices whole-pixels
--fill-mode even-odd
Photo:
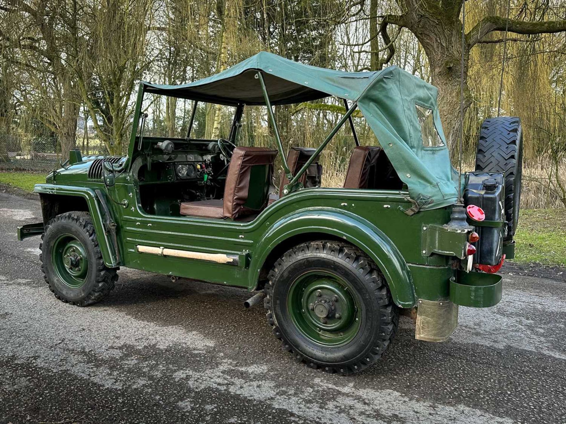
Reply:
[[[381,357],[397,330],[398,309],[383,275],[346,243],[295,246],[277,260],[265,291],[275,336],[314,368],[357,373]]]

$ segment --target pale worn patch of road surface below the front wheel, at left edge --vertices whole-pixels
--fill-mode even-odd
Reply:
[[[4,278],[5,279],[5,278]],[[124,370],[96,366],[91,357],[139,367],[139,360],[125,356],[121,348],[170,348],[182,345],[198,353],[214,342],[181,326],[158,326],[114,308],[78,308],[56,300],[46,287],[5,281],[0,284],[0,357],[34,360],[53,371],[66,370],[104,387],[143,386]],[[147,363],[145,366],[149,366]],[[152,373],[160,373],[152,365]]]

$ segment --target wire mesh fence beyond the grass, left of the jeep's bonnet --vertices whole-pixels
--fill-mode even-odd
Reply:
[[[78,142],[82,155],[104,155],[108,150],[97,140]],[[57,137],[0,134],[0,170],[51,171],[66,161],[68,152],[61,152]]]

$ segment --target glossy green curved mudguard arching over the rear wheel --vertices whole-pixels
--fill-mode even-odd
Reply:
[[[312,240],[347,241],[361,249],[383,273],[395,304],[401,308],[415,306],[411,273],[395,244],[374,224],[344,211],[303,211],[274,223],[255,248],[259,254],[250,263],[248,287],[260,288],[281,254]]]

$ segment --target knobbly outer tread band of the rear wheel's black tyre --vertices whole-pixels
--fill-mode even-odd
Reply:
[[[310,358],[303,357],[303,355],[295,351],[288,340],[285,340],[280,328],[277,326],[275,319],[273,318],[273,312],[271,309],[271,299],[273,292],[273,281],[277,278],[279,272],[281,272],[284,267],[293,262],[294,258],[302,254],[308,253],[326,253],[334,256],[336,258],[341,258],[344,261],[352,265],[358,272],[363,276],[370,292],[374,293],[374,296],[378,299],[378,305],[380,306],[380,328],[379,337],[376,339],[374,346],[365,355],[362,360],[349,363],[344,366],[329,366],[328,364],[320,364],[316,361],[312,361]],[[375,263],[366,256],[361,250],[355,248],[348,243],[340,243],[337,241],[329,240],[318,240],[310,241],[308,243],[302,243],[294,248],[288,250],[283,256],[281,256],[275,264],[273,265],[271,271],[268,274],[268,281],[264,287],[265,297],[264,297],[264,308],[267,309],[267,322],[273,329],[273,335],[278,340],[281,340],[281,345],[284,351],[293,354],[293,357],[298,362],[303,362],[307,366],[314,369],[323,369],[327,373],[339,373],[339,374],[354,374],[365,370],[368,366],[374,364],[381,358],[381,355],[392,343],[393,338],[397,332],[399,324],[399,314],[397,306],[393,303],[391,298],[391,293],[389,288],[385,283],[383,275],[379,271]]]

